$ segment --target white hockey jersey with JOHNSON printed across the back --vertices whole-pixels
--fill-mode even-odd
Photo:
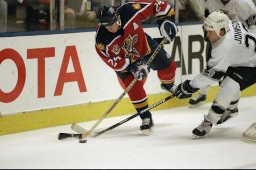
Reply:
[[[191,87],[216,83],[228,67],[256,67],[256,35],[238,21],[230,21],[229,28],[225,37],[212,43],[212,58],[207,68],[191,80]]]

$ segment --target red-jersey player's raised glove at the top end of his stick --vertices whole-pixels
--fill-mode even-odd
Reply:
[[[172,22],[170,17],[159,19],[157,23],[161,35],[171,42],[179,31],[175,23]]]

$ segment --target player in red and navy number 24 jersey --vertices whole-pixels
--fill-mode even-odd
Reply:
[[[114,6],[103,6],[99,12],[100,25],[95,35],[95,48],[100,58],[114,71],[125,87],[134,77],[138,79],[128,92],[135,109],[139,112],[148,107],[147,94],[143,88],[143,79],[149,70],[157,70],[161,87],[171,92],[175,62],[169,54],[161,49],[149,67],[145,63],[155,51],[158,43],[147,35],[141,26],[141,20],[150,15],[157,18],[161,35],[169,41],[175,37],[178,28],[173,22],[173,8],[162,1],[129,2],[116,9]],[[153,119],[149,111],[140,115],[140,130],[146,134],[153,133]]]

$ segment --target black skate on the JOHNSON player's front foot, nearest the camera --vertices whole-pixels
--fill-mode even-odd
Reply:
[[[204,120],[197,128],[193,130],[192,139],[197,139],[199,137],[204,137],[208,134],[212,129],[212,123],[206,120],[206,116],[204,115]]]

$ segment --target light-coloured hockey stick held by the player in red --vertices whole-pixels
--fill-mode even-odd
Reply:
[[[146,63],[146,66],[149,66],[149,64],[155,59],[156,55],[161,50],[161,48],[164,46],[165,42],[166,42],[166,38],[164,37],[162,42],[157,46],[154,53],[150,56],[149,60]],[[116,105],[119,103],[119,101],[121,101],[123,99],[125,94],[128,93],[131,90],[131,88],[137,82],[137,80],[138,80],[137,78],[134,78],[132,80],[132,82],[129,84],[129,86],[119,96],[119,98],[112,104],[112,106],[105,112],[105,114],[103,114],[101,116],[101,118],[89,129],[89,131],[82,134],[82,139],[84,139],[86,136],[89,136],[92,133],[92,131],[102,122],[102,120],[110,113],[110,111],[113,110],[116,107]],[[59,138],[60,138],[60,135],[59,135]]]

